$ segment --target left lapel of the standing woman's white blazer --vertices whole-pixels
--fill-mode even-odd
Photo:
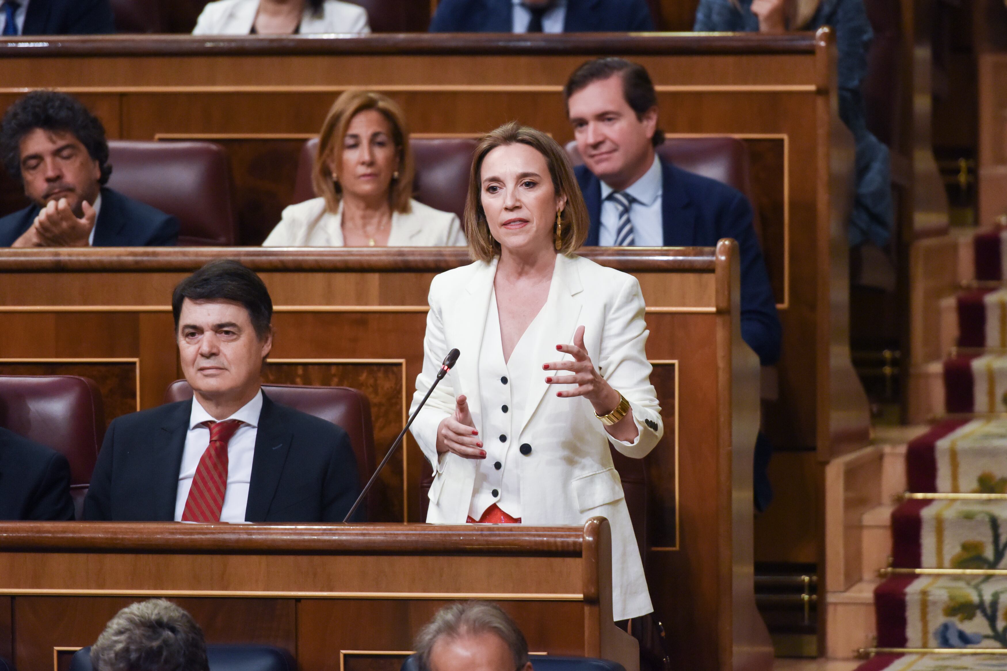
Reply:
[[[472,279],[461,295],[460,305],[456,314],[459,316],[455,326],[458,334],[458,350],[461,355],[457,366],[460,389],[455,389],[455,395],[464,393],[468,399],[468,409],[472,413],[475,426],[480,426],[482,407],[479,401],[479,353],[482,350],[482,335],[486,330],[486,315],[489,313],[489,299],[493,291],[493,279],[496,277],[494,259],[489,264],[476,267]],[[447,352],[444,352],[447,354]]]

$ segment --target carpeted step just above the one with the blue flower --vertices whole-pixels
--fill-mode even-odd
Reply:
[[[910,499],[892,512],[891,536],[895,568],[1007,568],[1007,500]]]

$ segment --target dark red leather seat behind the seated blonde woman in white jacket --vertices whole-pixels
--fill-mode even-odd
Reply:
[[[409,145],[416,161],[414,197],[424,205],[454,212],[460,219],[468,197],[468,171],[477,144],[478,140],[473,138],[411,138]],[[294,183],[295,203],[315,197],[311,170],[317,153],[317,138],[304,143]]]

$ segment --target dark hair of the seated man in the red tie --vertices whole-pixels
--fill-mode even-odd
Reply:
[[[178,333],[178,318],[185,299],[241,303],[248,310],[252,328],[260,340],[269,334],[273,321],[273,299],[269,297],[269,290],[262,279],[237,261],[211,261],[178,283],[171,295],[175,333]]]

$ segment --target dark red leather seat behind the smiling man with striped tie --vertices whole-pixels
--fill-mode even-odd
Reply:
[[[583,165],[584,161],[577,151],[576,142],[568,142],[566,150],[575,166]],[[658,147],[658,155],[683,170],[733,186],[745,194],[748,202],[754,202],[749,178],[748,148],[743,140],[719,135],[702,138],[668,138]],[[757,211],[754,214],[753,225],[761,240],[762,226]]]

